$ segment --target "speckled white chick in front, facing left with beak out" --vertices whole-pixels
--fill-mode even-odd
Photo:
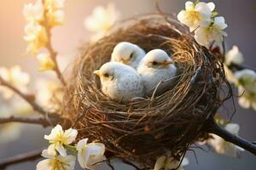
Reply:
[[[100,77],[102,92],[118,102],[144,96],[143,81],[128,65],[108,62],[100,70],[94,71]]]

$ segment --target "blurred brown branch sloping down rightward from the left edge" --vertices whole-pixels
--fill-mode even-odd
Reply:
[[[9,82],[6,82],[3,80],[2,77],[0,77],[0,85],[6,87],[6,88],[9,88],[10,90],[12,90],[13,92],[15,92],[15,94],[18,94],[20,95],[20,97],[22,99],[25,99],[26,102],[32,106],[33,110],[34,111],[38,111],[38,113],[40,113],[41,115],[46,115],[47,114],[47,111],[44,111],[44,109],[38,105],[36,102],[35,102],[35,99],[32,99],[29,95],[27,94],[23,94],[22,92],[20,92],[20,90],[18,88],[15,88],[12,84],[10,84]]]

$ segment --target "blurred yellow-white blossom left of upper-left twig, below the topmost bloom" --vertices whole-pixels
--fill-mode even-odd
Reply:
[[[38,53],[40,48],[45,47],[48,42],[48,37],[44,26],[39,26],[36,23],[28,23],[25,27],[24,39],[28,42],[26,52],[30,54]]]

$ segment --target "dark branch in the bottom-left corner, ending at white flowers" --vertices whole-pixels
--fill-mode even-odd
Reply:
[[[42,150],[34,150],[17,156],[0,160],[0,169],[4,169],[10,165],[14,165],[24,161],[33,161],[41,156]]]

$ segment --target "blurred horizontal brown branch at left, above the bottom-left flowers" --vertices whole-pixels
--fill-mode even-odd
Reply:
[[[44,117],[31,118],[31,117],[18,117],[18,116],[9,116],[0,118],[0,123],[8,123],[8,122],[22,122],[22,123],[30,123],[30,124],[38,124],[43,127],[49,127],[52,125],[56,125],[60,120],[49,117],[46,119]]]

